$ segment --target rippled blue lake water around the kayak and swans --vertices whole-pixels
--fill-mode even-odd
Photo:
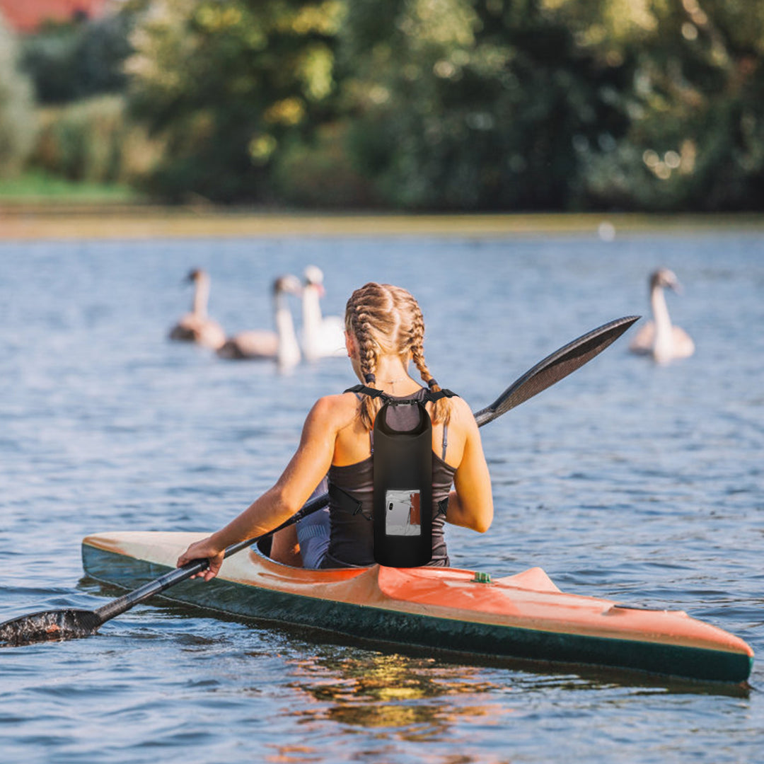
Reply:
[[[406,286],[433,374],[487,405],[549,352],[649,312],[672,267],[692,358],[620,339],[482,429],[496,516],[449,529],[452,564],[540,565],[564,591],[687,610],[764,655],[764,236],[248,238],[0,243],[0,620],[102,604],[79,544],[205,530],[272,484],[329,358],[279,376],[167,341],[190,267],[225,329],[270,327],[270,283],[325,272],[326,314],[367,280]],[[299,306],[293,303],[296,319]],[[639,325],[638,325],[639,326]],[[748,691],[596,672],[458,665],[136,607],[99,636],[0,650],[2,762],[753,762]]]

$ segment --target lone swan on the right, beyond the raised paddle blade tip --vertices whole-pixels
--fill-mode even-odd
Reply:
[[[649,283],[652,321],[637,332],[629,346],[630,351],[652,355],[659,364],[668,363],[672,358],[688,358],[695,351],[694,342],[684,329],[672,325],[663,293],[665,287],[679,293],[681,284],[668,268],[654,271]]]

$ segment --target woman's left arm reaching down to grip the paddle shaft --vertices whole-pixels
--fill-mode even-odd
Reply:
[[[179,567],[191,560],[207,558],[209,568],[199,577],[209,581],[218,574],[227,546],[262,536],[303,506],[332,464],[338,432],[335,398],[337,396],[329,396],[316,401],[305,420],[297,451],[276,484],[228,525],[190,545],[178,558]]]

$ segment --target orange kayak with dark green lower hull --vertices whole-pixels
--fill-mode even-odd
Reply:
[[[119,532],[83,539],[98,581],[138,588],[175,567],[205,533]],[[566,594],[542,568],[505,578],[459,568],[281,565],[256,546],[225,559],[212,581],[161,595],[235,617],[319,628],[361,643],[474,659],[594,665],[740,683],[753,665],[742,639],[681,610]]]

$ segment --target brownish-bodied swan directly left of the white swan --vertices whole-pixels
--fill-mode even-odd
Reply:
[[[299,345],[286,294],[299,295],[302,291],[297,277],[287,274],[277,278],[273,286],[276,331],[252,329],[239,332],[218,348],[218,355],[221,358],[274,359],[280,368],[290,368],[298,364]]]

